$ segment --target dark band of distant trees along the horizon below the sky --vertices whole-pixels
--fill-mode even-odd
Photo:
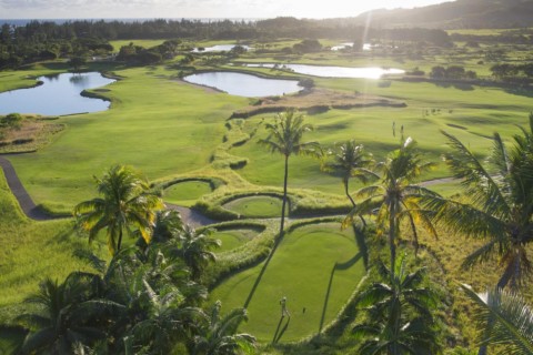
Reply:
[[[257,40],[278,38],[402,40],[449,45],[445,31],[430,29],[369,29],[352,21],[299,20],[276,18],[261,21],[30,21],[26,26],[4,23],[0,28],[0,70],[19,68],[39,60],[73,55],[107,55],[113,48],[109,41],[134,39],[167,40]],[[148,53],[151,54],[151,53]]]

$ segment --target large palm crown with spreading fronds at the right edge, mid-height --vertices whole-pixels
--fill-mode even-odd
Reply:
[[[466,256],[463,267],[497,255],[503,265],[497,288],[516,290],[532,272],[527,248],[533,242],[533,114],[530,131],[514,135],[511,150],[494,133],[490,170],[455,136],[443,134],[453,149],[445,154],[446,164],[471,203],[434,200],[430,207],[439,211],[438,221],[452,232],[486,240]]]

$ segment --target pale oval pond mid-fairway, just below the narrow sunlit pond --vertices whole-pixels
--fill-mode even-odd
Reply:
[[[283,95],[303,89],[298,84],[298,80],[265,79],[244,73],[222,71],[192,74],[183,78],[183,80],[244,98]]]

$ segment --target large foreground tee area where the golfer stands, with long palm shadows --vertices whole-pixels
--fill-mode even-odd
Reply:
[[[264,263],[223,282],[211,294],[225,310],[242,307]],[[335,223],[309,225],[285,235],[275,251],[248,307],[242,331],[261,342],[272,342],[281,317],[280,300],[286,296],[291,318],[281,322],[281,342],[319,332],[344,305],[364,275],[353,233]]]

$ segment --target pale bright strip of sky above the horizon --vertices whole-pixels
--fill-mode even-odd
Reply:
[[[0,0],[0,19],[355,17],[451,0]]]

